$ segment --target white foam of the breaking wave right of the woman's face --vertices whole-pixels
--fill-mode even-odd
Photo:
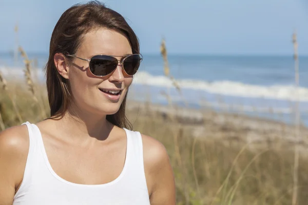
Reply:
[[[182,89],[202,90],[209,93],[240,96],[273,98],[283,100],[296,100],[296,87],[292,85],[259,86],[243,84],[237,81],[213,81],[206,82],[194,79],[178,79],[178,85]],[[166,76],[153,76],[146,72],[139,72],[134,78],[134,84],[142,84],[158,87],[172,87],[172,81]],[[298,88],[299,101],[308,101],[308,89]]]

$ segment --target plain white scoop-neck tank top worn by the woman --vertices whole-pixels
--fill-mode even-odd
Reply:
[[[64,180],[52,170],[40,130],[35,124],[24,124],[28,127],[30,147],[24,179],[13,205],[150,204],[139,132],[124,129],[126,158],[118,178],[102,185],[81,185]]]

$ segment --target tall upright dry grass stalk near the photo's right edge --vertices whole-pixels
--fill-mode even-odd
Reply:
[[[299,113],[299,93],[298,93],[298,86],[299,86],[299,64],[298,64],[298,44],[297,44],[297,36],[296,32],[293,34],[293,46],[294,46],[294,61],[295,61],[295,84],[296,84],[296,107],[295,107],[295,133],[296,133],[296,140],[299,142],[301,140],[300,136],[300,113]],[[297,197],[298,197],[298,166],[299,166],[299,148],[298,143],[295,144],[294,148],[294,170],[293,170],[293,194],[292,194],[292,205],[297,204]]]

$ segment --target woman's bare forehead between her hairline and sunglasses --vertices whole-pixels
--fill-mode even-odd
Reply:
[[[97,54],[126,55],[132,51],[128,39],[123,34],[101,28],[84,34],[78,53],[90,57]]]

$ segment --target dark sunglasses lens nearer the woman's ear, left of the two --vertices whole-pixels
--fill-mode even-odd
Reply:
[[[117,68],[118,60],[112,56],[97,55],[91,58],[89,66],[93,75],[105,76]]]

